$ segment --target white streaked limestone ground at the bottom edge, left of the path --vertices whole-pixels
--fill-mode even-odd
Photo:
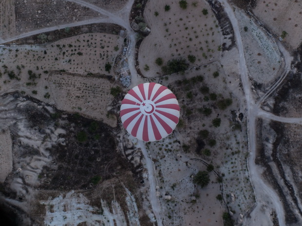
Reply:
[[[53,199],[49,197],[40,201],[46,208],[44,223],[46,226],[76,226],[82,222],[87,226],[127,226],[127,218],[131,226],[140,226],[135,198],[126,187],[125,191],[127,212],[116,200],[111,203],[101,200],[101,208],[93,207],[81,191],[61,193]]]

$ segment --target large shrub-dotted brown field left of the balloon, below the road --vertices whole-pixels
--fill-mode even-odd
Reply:
[[[116,125],[115,116],[108,115],[113,101],[113,69],[106,71],[105,66],[114,66],[122,45],[119,35],[88,33],[45,45],[2,46],[1,92],[19,90],[57,104],[59,109]]]

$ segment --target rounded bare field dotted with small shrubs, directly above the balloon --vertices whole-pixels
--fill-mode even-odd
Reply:
[[[192,3],[189,1],[188,8],[182,9],[178,1],[147,2],[144,17],[151,33],[141,43],[138,53],[139,69],[144,76],[163,74],[161,67],[155,64],[158,57],[165,65],[172,58],[183,57],[188,61],[192,55],[195,60],[189,67],[219,59],[222,35],[216,17],[206,2],[198,2],[196,6]],[[170,6],[169,11],[165,11],[166,4]],[[201,12],[203,8],[208,12],[206,15]],[[150,70],[145,70],[146,65]]]

